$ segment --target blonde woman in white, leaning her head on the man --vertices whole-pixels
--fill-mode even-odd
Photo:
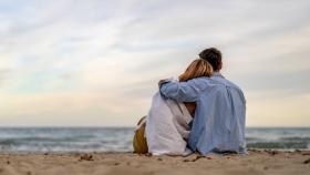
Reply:
[[[178,81],[185,82],[199,76],[210,76],[211,65],[203,59],[193,61]],[[165,83],[161,81],[159,85]],[[146,117],[142,119],[134,135],[134,152],[153,155],[188,155],[186,147],[189,123],[195,114],[195,103],[178,103],[164,99],[157,92]]]

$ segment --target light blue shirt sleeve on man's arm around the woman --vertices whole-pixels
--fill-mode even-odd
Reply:
[[[194,80],[187,82],[165,82],[161,84],[159,91],[164,97],[173,99],[177,102],[195,102],[199,93],[199,89]]]

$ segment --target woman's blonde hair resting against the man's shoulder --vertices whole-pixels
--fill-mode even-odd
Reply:
[[[186,71],[178,76],[178,80],[180,82],[186,82],[195,78],[211,76],[213,72],[213,66],[208,61],[196,59],[188,65]]]

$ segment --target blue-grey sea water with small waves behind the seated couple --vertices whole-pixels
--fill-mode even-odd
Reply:
[[[133,127],[0,127],[0,152],[132,152]],[[310,150],[310,127],[250,127],[248,148]]]

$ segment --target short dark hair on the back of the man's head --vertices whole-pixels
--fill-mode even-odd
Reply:
[[[200,59],[207,60],[214,71],[221,69],[221,52],[216,48],[205,49],[199,53]]]

